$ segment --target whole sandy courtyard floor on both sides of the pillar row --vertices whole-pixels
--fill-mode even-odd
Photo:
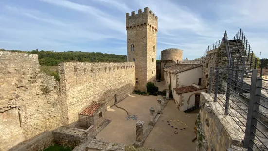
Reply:
[[[158,98],[162,99],[161,96],[131,94],[117,104],[118,107],[128,111],[130,118],[126,118],[127,113],[123,109],[116,106],[111,107],[105,113],[105,118],[112,120],[112,122],[98,133],[96,138],[114,143],[133,144],[135,142],[135,126],[137,121],[145,122],[144,132],[149,123],[149,108],[154,107],[156,114]],[[198,110],[195,110],[186,114],[179,111],[173,100],[170,100],[145,140],[143,147],[161,151],[195,151],[196,141],[192,142],[192,139],[196,136],[194,127],[198,112]],[[175,134],[175,131],[178,134]]]

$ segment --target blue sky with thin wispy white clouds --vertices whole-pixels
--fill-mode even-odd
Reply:
[[[252,50],[268,58],[268,0],[0,0],[0,48],[126,55],[125,13],[149,7],[158,16],[157,58],[183,59],[242,28]]]

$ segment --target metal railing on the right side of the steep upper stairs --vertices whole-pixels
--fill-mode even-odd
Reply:
[[[247,56],[246,58],[247,58],[247,62],[250,64],[250,69],[253,69],[253,67],[255,66],[256,56],[243,30],[240,28],[240,30],[235,34],[235,36],[232,39],[241,40],[243,51],[245,52],[244,55]]]

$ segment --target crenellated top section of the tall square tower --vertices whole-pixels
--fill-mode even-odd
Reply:
[[[142,12],[142,9],[139,9],[138,14],[132,11],[131,16],[129,13],[126,13],[126,30],[135,30],[148,26],[157,32],[157,19],[157,16],[148,7],[144,8],[144,12]]]

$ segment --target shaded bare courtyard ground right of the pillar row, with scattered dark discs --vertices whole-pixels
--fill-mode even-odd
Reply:
[[[198,112],[195,110],[186,114],[179,111],[173,100],[170,100],[143,147],[161,151],[196,151],[196,140],[192,142],[192,139],[196,136],[194,127]],[[174,134],[175,131],[178,134]]]

